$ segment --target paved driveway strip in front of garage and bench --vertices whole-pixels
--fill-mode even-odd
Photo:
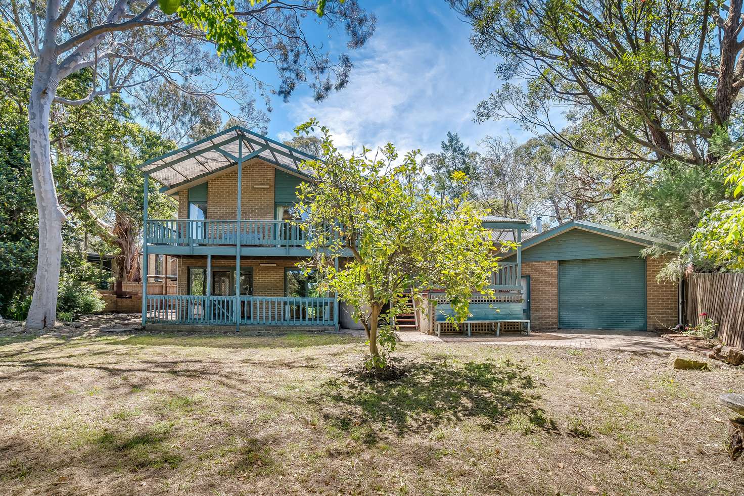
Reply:
[[[509,346],[543,346],[589,348],[595,350],[620,350],[631,352],[673,352],[682,350],[661,338],[655,332],[609,331],[589,329],[560,329],[551,332],[532,332],[529,337],[517,332],[503,332],[495,335],[474,335],[468,338],[461,335],[426,335],[423,332],[397,332],[400,341],[498,344]]]

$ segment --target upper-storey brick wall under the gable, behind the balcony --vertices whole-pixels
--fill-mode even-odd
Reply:
[[[243,164],[241,219],[273,220],[274,167],[254,159]],[[208,181],[207,218],[235,219],[237,213],[237,169]],[[179,192],[179,219],[188,219],[188,190]]]

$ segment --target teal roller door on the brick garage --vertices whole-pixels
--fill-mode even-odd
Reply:
[[[646,260],[561,260],[558,325],[562,329],[646,329]]]

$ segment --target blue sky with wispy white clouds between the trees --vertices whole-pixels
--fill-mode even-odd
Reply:
[[[473,122],[473,109],[500,86],[498,60],[481,59],[469,44],[469,25],[444,0],[359,0],[377,16],[377,29],[364,48],[350,52],[350,82],[322,102],[300,88],[289,103],[275,98],[269,136],[288,139],[292,129],[317,117],[336,146],[357,151],[388,141],[399,149],[437,152],[446,132],[458,132],[471,149],[486,135],[528,135],[510,120]],[[329,39],[343,48],[344,33]],[[257,68],[263,74],[261,68]]]

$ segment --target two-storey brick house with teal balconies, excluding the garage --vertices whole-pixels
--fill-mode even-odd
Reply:
[[[297,267],[311,255],[295,209],[298,185],[315,180],[307,160],[315,157],[237,126],[142,164],[179,203],[177,219],[144,215],[144,260],[167,254],[179,268],[177,294],[144,291],[143,323],[338,328],[338,299],[318,294],[312,274]],[[513,239],[529,227],[515,219],[484,223]],[[521,261],[506,265],[494,274],[501,296],[472,306],[481,320],[504,318],[509,306],[522,315]],[[414,326],[423,318],[416,317]]]

